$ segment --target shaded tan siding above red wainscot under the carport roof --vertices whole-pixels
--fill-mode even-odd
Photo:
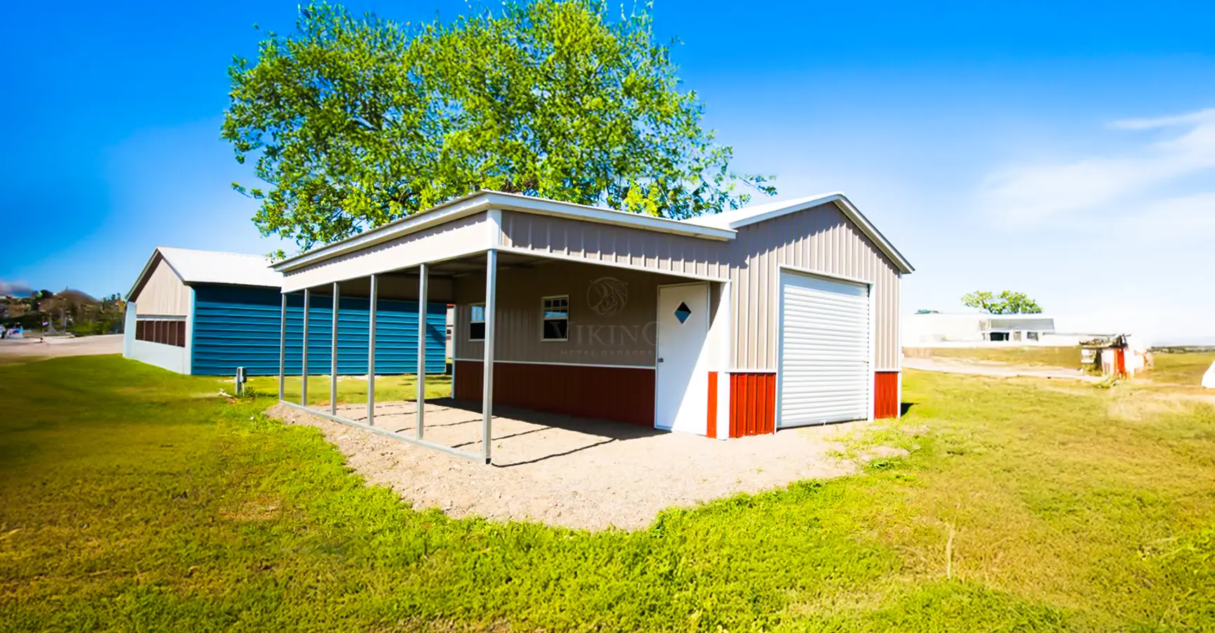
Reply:
[[[593,309],[595,281],[627,284],[627,301],[615,315]],[[498,329],[495,358],[515,362],[654,366],[654,321],[659,286],[686,283],[665,275],[548,261],[498,270]],[[569,340],[541,339],[541,299],[570,296]],[[479,360],[484,343],[468,340],[470,304],[485,301],[485,276],[456,279],[456,357]]]

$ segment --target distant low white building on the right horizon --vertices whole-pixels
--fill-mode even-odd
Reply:
[[[903,321],[903,345],[909,347],[968,347],[1000,345],[1079,345],[1087,334],[1061,334],[1045,315],[927,312]]]

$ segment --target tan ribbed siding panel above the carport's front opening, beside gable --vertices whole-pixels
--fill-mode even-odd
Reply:
[[[502,211],[502,245],[697,277],[724,279],[729,270],[729,242],[521,211]]]

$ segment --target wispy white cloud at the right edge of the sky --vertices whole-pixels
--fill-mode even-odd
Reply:
[[[1041,225],[1090,211],[1120,215],[1134,198],[1215,168],[1215,108],[1120,120],[1111,126],[1119,131],[1182,130],[1174,137],[1145,142],[1120,156],[999,169],[979,187],[981,208],[1002,225]],[[1119,208],[1102,209],[1115,203]]]

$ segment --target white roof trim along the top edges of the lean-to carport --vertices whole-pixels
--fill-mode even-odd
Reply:
[[[458,220],[460,217],[487,211],[490,209],[505,209],[510,211],[532,213],[554,217],[569,217],[584,222],[628,226],[632,228],[689,236],[701,239],[727,241],[734,239],[735,237],[735,231],[731,228],[697,226],[678,220],[668,220],[666,217],[639,215],[635,213],[617,211],[615,209],[604,209],[600,207],[587,207],[584,204],[573,204],[569,202],[552,200],[548,198],[520,196],[518,193],[479,191],[476,193],[470,193],[468,196],[442,203],[437,207],[433,207],[425,211],[418,211],[400,220],[394,220],[364,233],[284,259],[275,264],[275,270],[279,272],[292,271],[309,264],[367,248],[382,242],[388,242],[390,239],[396,239],[431,226]]]

